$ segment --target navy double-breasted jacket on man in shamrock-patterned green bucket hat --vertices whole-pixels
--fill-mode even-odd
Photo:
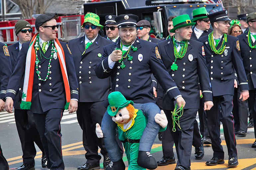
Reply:
[[[97,78],[94,68],[100,62],[103,47],[111,43],[113,41],[105,39],[98,34],[98,37],[82,56],[85,49],[84,36],[68,42],[79,85],[79,102],[103,101],[110,93],[110,78]]]

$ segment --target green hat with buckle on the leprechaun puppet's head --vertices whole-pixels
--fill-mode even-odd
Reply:
[[[113,91],[108,95],[109,105],[107,112],[110,116],[115,116],[118,110],[126,107],[128,104],[133,104],[132,100],[126,100],[120,91]]]

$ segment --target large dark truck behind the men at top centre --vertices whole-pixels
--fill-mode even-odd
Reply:
[[[159,38],[167,37],[168,17],[189,14],[192,10],[205,7],[209,14],[224,9],[221,0],[108,0],[85,3],[84,14],[93,12],[104,25],[106,15],[134,14],[139,20],[148,20],[151,29]],[[100,32],[103,35],[105,31]]]

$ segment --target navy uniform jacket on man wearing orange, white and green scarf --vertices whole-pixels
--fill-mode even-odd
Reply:
[[[71,90],[77,91],[78,85],[76,81],[72,55],[67,48],[67,44],[61,41],[60,43],[64,50],[70,91]],[[28,52],[29,44],[30,42],[26,42],[22,44],[22,49],[19,52],[18,58],[14,66],[13,74],[11,75],[8,86],[7,86],[7,90],[9,89],[11,91],[13,90],[14,91],[7,92],[6,97],[12,97],[14,99],[16,91],[18,90],[19,86],[23,84],[22,78],[24,77],[24,74],[25,74],[26,55]],[[39,50],[37,53],[38,54],[40,53]],[[42,52],[42,54],[44,53]],[[51,46],[49,46],[44,56],[49,58],[50,55],[51,55]],[[38,64],[38,67],[39,67],[38,70],[41,72],[40,76],[42,77],[42,79],[45,79],[47,75],[49,60],[46,60],[44,57],[42,57],[42,60],[41,60],[40,55],[38,56],[38,58],[41,61]],[[66,96],[65,96],[64,82],[62,78],[59,58],[57,58],[56,60],[53,58],[51,62],[51,66],[52,67],[50,68],[50,71],[52,73],[49,75],[48,79],[44,82],[44,81],[38,80],[38,75],[35,73],[36,72],[36,64],[35,64],[32,100],[31,100],[31,108],[30,108],[32,113],[43,113],[53,108],[61,108],[61,109],[64,108],[64,105],[66,103]],[[22,91],[22,89],[19,91]],[[78,92],[74,93],[72,91],[70,94],[71,98],[78,99],[77,93]]]

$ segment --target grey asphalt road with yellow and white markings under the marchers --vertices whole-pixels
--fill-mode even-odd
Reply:
[[[61,122],[62,128],[62,151],[65,164],[65,170],[76,170],[78,166],[82,166],[85,162],[85,150],[82,145],[82,130],[78,125],[76,113],[68,114],[64,112]],[[213,155],[211,145],[204,145],[204,157],[201,160],[194,159],[194,147],[192,147],[191,154],[191,169],[214,169],[226,170],[228,169],[228,154],[227,147],[224,140],[224,134],[221,130],[221,140],[225,151],[225,163],[216,166],[207,166],[205,162],[210,160]],[[236,136],[237,151],[238,151],[238,166],[232,170],[256,170],[256,148],[252,148],[251,144],[255,141],[253,128],[248,129],[246,137]],[[3,154],[9,163],[10,168],[17,168],[22,165],[22,150],[21,144],[16,129],[14,114],[7,112],[0,112],[0,143],[3,149]],[[37,155],[35,157],[36,170],[47,170],[42,168],[41,157],[42,152],[37,148]],[[156,138],[151,150],[152,155],[160,160],[163,156],[162,143]],[[177,154],[174,146],[174,153],[177,159]],[[100,154],[100,153],[99,153]],[[126,156],[124,155],[126,167],[128,167]],[[103,157],[100,161],[101,168],[103,169]],[[157,170],[174,170],[176,164],[159,166]],[[126,168],[127,169],[127,168]]]

